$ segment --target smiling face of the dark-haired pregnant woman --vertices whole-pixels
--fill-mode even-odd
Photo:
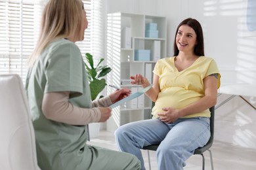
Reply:
[[[196,32],[188,25],[181,25],[176,35],[176,44],[181,52],[194,52]]]

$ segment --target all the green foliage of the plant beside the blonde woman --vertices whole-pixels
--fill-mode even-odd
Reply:
[[[98,64],[96,67],[94,66],[93,56],[89,53],[85,54],[86,61],[85,63],[85,69],[87,71],[87,76],[89,80],[89,86],[91,90],[91,99],[92,101],[96,99],[98,94],[104,90],[106,86],[106,80],[105,78],[102,78],[103,76],[106,76],[112,69],[108,67],[107,65],[101,65],[104,58],[100,58],[100,61],[98,61]],[[100,96],[102,97],[102,96]]]

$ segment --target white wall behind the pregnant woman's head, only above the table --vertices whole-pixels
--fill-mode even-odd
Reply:
[[[166,16],[168,56],[173,54],[177,25],[184,18],[196,18],[204,31],[205,55],[217,61],[222,84],[256,84],[256,31],[246,30],[247,0],[107,0],[106,4],[108,13]],[[248,34],[254,37],[244,37]]]

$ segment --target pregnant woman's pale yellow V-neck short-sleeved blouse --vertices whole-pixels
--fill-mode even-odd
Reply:
[[[163,58],[157,61],[153,73],[159,76],[160,93],[152,109],[153,118],[163,112],[163,107],[182,109],[204,96],[203,78],[211,74],[218,74],[218,88],[220,86],[219,69],[212,58],[200,56],[194,63],[178,71],[174,63],[175,57]],[[209,117],[209,109],[183,118],[197,116]]]

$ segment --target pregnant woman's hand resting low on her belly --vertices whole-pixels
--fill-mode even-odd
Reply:
[[[158,113],[160,120],[165,123],[172,123],[179,119],[179,109],[173,109],[172,107],[163,107],[163,112]]]

